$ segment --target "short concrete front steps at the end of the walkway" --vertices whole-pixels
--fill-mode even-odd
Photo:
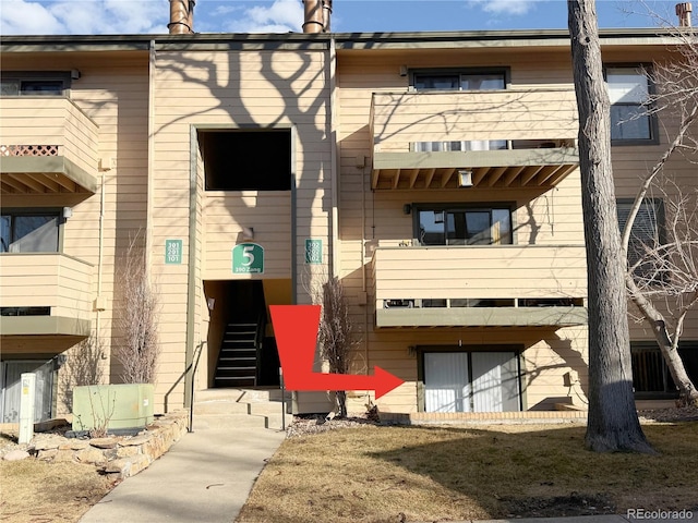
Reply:
[[[194,431],[250,427],[280,430],[279,389],[207,389],[194,392]],[[286,425],[291,423],[291,393],[286,393]]]

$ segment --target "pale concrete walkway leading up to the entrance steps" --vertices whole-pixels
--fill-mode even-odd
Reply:
[[[231,523],[285,433],[194,422],[163,458],[129,477],[81,523]]]

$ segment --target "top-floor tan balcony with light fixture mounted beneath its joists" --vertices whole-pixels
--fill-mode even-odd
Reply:
[[[470,171],[476,187],[546,190],[579,165],[577,131],[570,89],[375,93],[371,184],[455,188]],[[425,142],[481,150],[419,151]],[[500,148],[486,150],[494,142]]]

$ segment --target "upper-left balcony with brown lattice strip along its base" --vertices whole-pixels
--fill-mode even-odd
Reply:
[[[75,104],[19,96],[0,105],[0,194],[96,191],[98,125]]]

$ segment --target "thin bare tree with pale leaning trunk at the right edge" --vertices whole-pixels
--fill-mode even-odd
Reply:
[[[628,259],[637,215],[648,194],[659,192],[665,209],[664,238],[658,234],[654,241],[642,245],[640,256],[628,267],[625,282],[630,300],[652,328],[678,387],[681,402],[687,404],[698,403],[698,390],[678,354],[678,341],[688,312],[698,302],[698,193],[694,190],[687,194],[665,171],[676,155],[690,163],[698,162],[698,36],[685,27],[671,33],[677,46],[669,60],[654,63],[648,71],[655,93],[648,97],[641,114],[661,113],[663,120],[676,122],[676,126],[665,127],[669,146],[642,179],[625,223],[622,248]],[[660,311],[660,304],[666,314]]]

